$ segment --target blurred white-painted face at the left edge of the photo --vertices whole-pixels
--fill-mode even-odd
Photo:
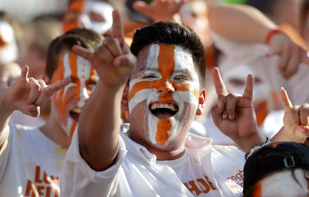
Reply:
[[[16,61],[18,48],[15,33],[12,26],[4,20],[0,20],[0,64]]]

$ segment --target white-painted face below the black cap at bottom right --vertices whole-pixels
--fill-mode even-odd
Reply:
[[[254,197],[261,196],[308,196],[308,183],[305,179],[308,178],[306,170],[297,168],[294,171],[294,180],[291,170],[274,172],[268,175],[257,183],[257,187],[252,192]]]

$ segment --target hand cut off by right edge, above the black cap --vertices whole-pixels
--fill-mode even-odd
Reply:
[[[283,124],[286,132],[302,138],[309,137],[309,104],[293,106],[283,87],[281,87],[281,100],[285,112]]]

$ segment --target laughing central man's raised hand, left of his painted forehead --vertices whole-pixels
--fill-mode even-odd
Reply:
[[[113,11],[112,36],[107,37],[95,52],[74,45],[72,50],[91,62],[100,80],[107,85],[126,82],[136,64],[136,57],[124,41],[123,24],[118,10]]]

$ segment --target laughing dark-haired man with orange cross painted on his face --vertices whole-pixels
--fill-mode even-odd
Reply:
[[[245,153],[233,146],[213,147],[210,138],[188,133],[205,104],[199,38],[188,27],[159,22],[138,29],[130,51],[122,28],[114,11],[113,36],[94,53],[73,47],[100,78],[66,154],[61,195],[242,196]],[[217,68],[213,76],[219,100],[212,108],[214,122],[249,153],[266,142],[256,126],[252,75],[243,95],[227,93]],[[120,103],[130,114],[121,132]]]

